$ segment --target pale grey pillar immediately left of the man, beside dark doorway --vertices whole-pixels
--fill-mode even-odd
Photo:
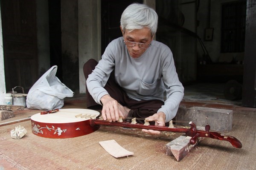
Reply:
[[[101,59],[100,0],[78,0],[79,93],[86,91],[84,63]],[[86,9],[86,10],[85,10]]]

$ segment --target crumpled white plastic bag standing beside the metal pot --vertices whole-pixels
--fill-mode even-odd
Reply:
[[[29,89],[26,106],[30,109],[52,110],[64,106],[65,97],[73,97],[73,91],[56,77],[57,65],[52,66]]]

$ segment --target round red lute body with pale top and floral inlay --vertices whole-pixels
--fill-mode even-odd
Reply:
[[[89,109],[59,109],[49,114],[31,116],[32,132],[45,138],[73,138],[94,132],[99,126],[90,126],[90,119],[99,116]]]

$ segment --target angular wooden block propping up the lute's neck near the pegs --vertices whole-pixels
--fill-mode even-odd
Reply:
[[[182,135],[174,139],[172,142],[169,142],[168,144],[166,144],[166,155],[174,156],[177,161],[180,161],[204,138],[198,137],[195,144],[190,144],[190,139],[191,137]]]

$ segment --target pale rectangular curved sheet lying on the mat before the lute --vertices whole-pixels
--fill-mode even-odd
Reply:
[[[134,154],[133,152],[130,152],[121,147],[115,140],[101,141],[99,144],[115,158],[130,156]]]

